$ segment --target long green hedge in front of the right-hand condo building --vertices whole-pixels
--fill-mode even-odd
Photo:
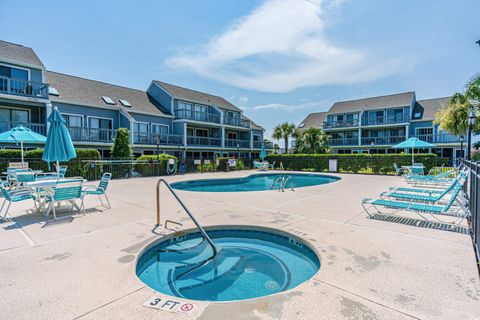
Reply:
[[[339,172],[351,173],[395,173],[393,164],[399,166],[411,165],[412,156],[409,154],[282,154],[268,155],[267,160],[275,167],[283,164],[285,170],[328,171],[328,160],[338,160]],[[431,168],[448,165],[449,159],[439,158],[435,154],[416,154],[415,162],[425,165],[425,172]]]

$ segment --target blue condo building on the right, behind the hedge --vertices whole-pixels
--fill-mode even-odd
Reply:
[[[454,161],[466,152],[461,138],[444,132],[433,122],[448,100],[417,100],[415,92],[404,92],[340,101],[326,112],[309,114],[299,128],[321,128],[329,135],[332,152],[338,154],[403,152],[392,146],[417,137],[435,148],[416,152],[433,152]]]

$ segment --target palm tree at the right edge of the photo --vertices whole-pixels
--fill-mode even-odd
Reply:
[[[472,102],[478,102],[479,100],[480,74],[468,81],[463,92],[452,95],[447,106],[437,112],[434,122],[451,134],[465,135],[468,130],[468,108]],[[473,130],[474,132],[480,132],[478,120]]]

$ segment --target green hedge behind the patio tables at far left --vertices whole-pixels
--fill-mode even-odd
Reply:
[[[96,149],[75,149],[77,158],[67,162],[61,162],[61,165],[67,165],[67,176],[79,176],[84,174],[84,163],[82,160],[100,160],[100,152]],[[34,149],[24,152],[24,160],[28,162],[30,168],[42,170],[45,172],[54,171],[53,166],[48,167],[48,163],[42,160],[43,149]],[[20,150],[5,149],[0,150],[0,170],[6,171],[10,162],[20,162],[22,158]]]

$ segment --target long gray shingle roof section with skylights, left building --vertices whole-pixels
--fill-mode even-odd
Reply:
[[[45,78],[46,82],[60,93],[58,97],[50,95],[50,100],[52,101],[119,110],[122,106],[119,99],[125,99],[132,105],[131,108],[124,108],[128,112],[153,116],[169,115],[167,111],[162,112],[161,106],[142,90],[79,78],[53,71],[47,71]],[[116,102],[116,105],[105,103],[102,96],[112,98]]]

